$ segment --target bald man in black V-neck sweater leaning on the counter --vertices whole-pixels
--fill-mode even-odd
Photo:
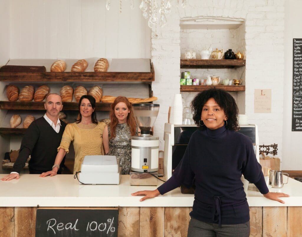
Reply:
[[[58,117],[63,108],[61,97],[55,93],[49,94],[44,107],[46,114],[34,120],[25,132],[13,171],[1,180],[19,179],[19,173],[29,156],[31,156],[28,163],[30,174],[41,174],[52,170],[57,147],[60,145],[66,127],[66,124]],[[58,169],[58,173],[61,173],[62,167]]]

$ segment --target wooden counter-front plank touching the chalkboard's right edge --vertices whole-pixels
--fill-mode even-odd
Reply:
[[[140,208],[120,207],[118,212],[118,236],[140,236]]]

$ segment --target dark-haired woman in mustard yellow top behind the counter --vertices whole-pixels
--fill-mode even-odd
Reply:
[[[42,173],[40,177],[56,175],[63,157],[69,151],[71,141],[75,150],[74,174],[81,170],[84,156],[105,154],[103,131],[106,124],[96,120],[95,98],[90,95],[83,95],[79,101],[79,111],[79,120],[66,125],[53,169]]]

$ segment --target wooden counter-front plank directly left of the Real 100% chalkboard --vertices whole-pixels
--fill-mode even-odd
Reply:
[[[15,207],[15,236],[34,237],[36,234],[36,207]]]

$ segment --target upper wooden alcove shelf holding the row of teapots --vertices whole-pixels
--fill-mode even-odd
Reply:
[[[245,66],[245,60],[181,59],[180,68],[236,68]]]

